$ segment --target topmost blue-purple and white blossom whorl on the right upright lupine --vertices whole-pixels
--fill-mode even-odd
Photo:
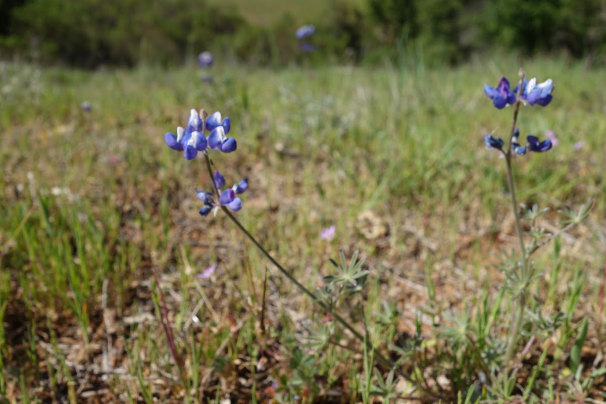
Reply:
[[[495,107],[501,108],[513,105],[518,101],[517,94],[519,90],[519,84],[511,90],[509,87],[509,81],[506,78],[501,78],[501,81],[497,87],[490,87],[490,85],[484,86],[484,93],[488,98],[492,99]],[[542,83],[537,84],[536,78],[530,80],[524,78],[522,82],[522,91],[520,95],[520,101],[528,105],[541,105],[546,107],[551,102],[553,96],[553,81],[547,79]]]

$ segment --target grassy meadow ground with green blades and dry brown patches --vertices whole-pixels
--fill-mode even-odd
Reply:
[[[484,136],[508,137],[511,108],[482,88],[514,85],[519,67],[555,85],[550,105],[522,107],[522,137],[551,130],[558,144],[516,156],[518,202],[549,208],[535,223],[547,234],[559,210],[593,202],[532,256],[505,394],[491,375],[510,366],[498,357],[517,295],[495,253],[519,243],[504,160]],[[515,56],[208,71],[2,62],[0,403],[604,402],[605,78]],[[228,184],[248,178],[234,215],[290,274],[325,292],[330,259],[364,258],[364,288],[333,309],[366,343],[222,211],[198,214],[204,159],[164,143],[191,108],[231,119],[238,149],[211,159]]]

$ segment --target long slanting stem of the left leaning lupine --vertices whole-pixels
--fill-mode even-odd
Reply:
[[[213,176],[213,168],[211,167],[210,158],[208,157],[208,154],[204,154],[204,159],[206,161],[206,168],[208,170],[208,175],[210,176],[210,179],[213,182],[213,189],[215,190],[215,194],[216,194],[217,198],[219,198],[219,189],[217,188],[217,186],[215,184],[215,177]],[[335,313],[335,311],[330,306],[328,306],[326,303],[322,302],[322,300],[318,296],[316,296],[312,291],[308,290],[291,273],[289,273],[287,270],[285,270],[284,267],[282,267],[282,265],[280,265],[278,263],[278,261],[276,261],[270,255],[270,253],[268,253],[267,250],[265,250],[265,248],[262,247],[262,245],[255,239],[255,237],[253,237],[253,235],[250,234],[248,232],[248,230],[246,230],[246,228],[239,222],[239,220],[236,219],[235,216],[233,216],[233,214],[228,210],[227,207],[221,206],[221,209],[225,212],[225,214],[227,214],[227,217],[229,217],[231,219],[231,221],[236,225],[236,227],[238,227],[239,230],[241,230],[242,233],[244,233],[245,236],[248,237],[248,239],[259,249],[259,251],[261,251],[261,254],[263,256],[265,256],[268,260],[270,260],[270,262],[273,263],[273,265],[276,268],[278,268],[278,270],[285,277],[287,277],[288,280],[290,280],[290,282],[293,282],[295,284],[295,286],[297,286],[297,288],[299,288],[299,290],[302,291],[304,294],[306,294],[307,296],[309,296],[311,298],[311,300],[313,300],[313,302],[315,302],[322,309],[324,309],[325,311],[327,311],[328,313],[330,313],[330,315],[333,316],[333,318],[337,322],[341,323],[342,326],[344,326],[345,328],[347,328],[351,332],[351,334],[353,334],[353,336],[356,337],[356,339],[358,339],[362,343],[365,343],[365,345],[368,347],[368,349],[372,349],[373,351],[375,351],[375,355],[376,355],[377,359],[379,360],[379,362],[382,363],[382,365],[387,366],[387,368],[390,368],[390,369],[395,369],[396,373],[398,373],[399,376],[402,376],[402,377],[404,377],[404,379],[406,379],[408,381],[411,381],[410,376],[407,376],[406,374],[404,374],[400,369],[398,369],[394,365],[393,362],[391,362],[390,360],[388,360],[387,358],[385,358],[381,353],[379,353],[378,351],[376,351],[376,349],[372,345],[372,343],[370,341],[368,341],[368,339],[365,339],[364,336],[362,336],[362,334],[360,334],[358,331],[356,331],[356,329],[353,328],[350,325],[350,323],[347,322],[347,320],[345,320],[343,317],[339,316],[339,314]],[[422,388],[422,389],[424,390],[425,393],[431,394],[431,396],[436,397],[436,395],[435,395],[434,392],[425,391],[424,388]]]

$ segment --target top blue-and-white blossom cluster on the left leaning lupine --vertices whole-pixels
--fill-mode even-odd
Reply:
[[[207,147],[212,150],[221,150],[224,153],[231,153],[238,146],[233,137],[227,137],[230,130],[230,119],[221,120],[221,113],[215,112],[209,116],[206,121],[201,118],[204,113],[198,114],[196,110],[190,111],[190,119],[187,122],[187,128],[178,127],[177,134],[167,133],[164,135],[164,142],[173,150],[183,151],[185,158],[193,160],[198,155],[198,151],[206,151]],[[208,133],[208,138],[205,132]]]

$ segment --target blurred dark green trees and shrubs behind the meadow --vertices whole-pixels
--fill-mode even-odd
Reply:
[[[98,68],[223,62],[282,67],[456,64],[488,49],[606,63],[605,0],[0,0],[0,58]],[[294,33],[313,24],[317,51]]]

